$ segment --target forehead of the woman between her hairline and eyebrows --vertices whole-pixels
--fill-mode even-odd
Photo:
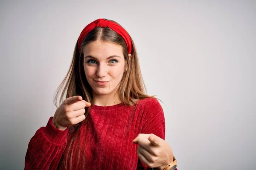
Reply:
[[[96,58],[107,58],[113,55],[123,58],[123,47],[113,42],[97,40],[85,45],[83,47],[83,53],[84,56],[90,55]]]

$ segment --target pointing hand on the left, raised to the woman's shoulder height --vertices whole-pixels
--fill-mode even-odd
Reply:
[[[55,111],[52,124],[60,130],[66,130],[67,127],[76,125],[85,119],[84,108],[90,105],[81,96],[69,97]]]

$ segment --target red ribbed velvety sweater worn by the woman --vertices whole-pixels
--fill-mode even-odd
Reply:
[[[76,159],[79,145],[85,146],[81,156],[85,157],[86,167],[90,170],[150,169],[138,158],[138,144],[132,140],[139,133],[154,133],[165,139],[163,109],[157,99],[152,98],[141,99],[137,108],[135,106],[123,103],[91,105],[88,121],[81,125],[76,137],[72,170],[81,169]],[[66,130],[57,129],[50,117],[46,127],[39,128],[28,144],[25,170],[56,170],[57,167],[64,170],[59,162],[70,142],[68,131],[69,127]]]

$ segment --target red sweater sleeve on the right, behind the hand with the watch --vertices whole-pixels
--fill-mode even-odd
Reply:
[[[165,117],[163,113],[163,108],[157,99],[144,99],[144,113],[143,113],[143,126],[142,133],[154,135],[165,139]],[[157,170],[156,168],[153,168]],[[138,170],[152,170],[152,168],[147,167],[140,159],[138,160]],[[175,169],[177,170],[177,168]]]

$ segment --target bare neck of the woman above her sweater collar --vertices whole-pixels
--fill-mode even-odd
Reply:
[[[98,106],[112,106],[121,103],[121,100],[119,99],[119,96],[113,92],[99,95],[93,91],[93,103]]]

